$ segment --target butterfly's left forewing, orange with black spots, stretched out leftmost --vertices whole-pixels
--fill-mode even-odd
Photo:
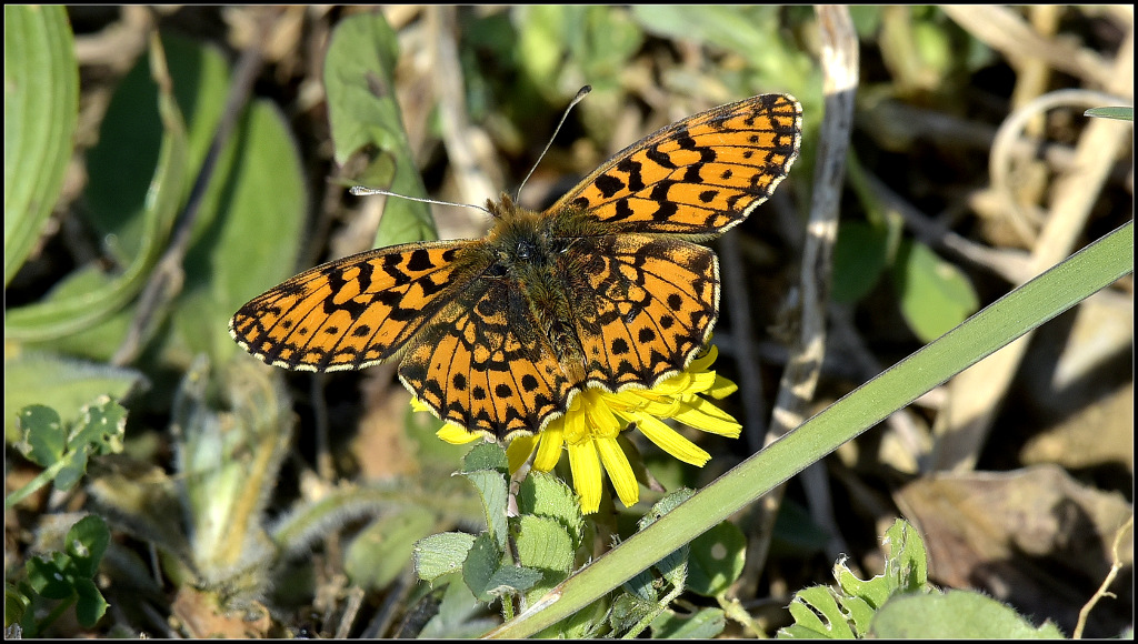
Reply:
[[[481,270],[473,241],[405,243],[305,271],[242,306],[229,331],[262,361],[363,369],[396,354]]]

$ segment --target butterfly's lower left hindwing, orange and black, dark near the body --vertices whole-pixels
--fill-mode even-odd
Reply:
[[[399,379],[439,418],[503,439],[560,415],[576,382],[508,276],[456,294],[407,348]]]

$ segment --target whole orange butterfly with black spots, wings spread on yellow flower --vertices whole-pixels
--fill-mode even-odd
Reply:
[[[401,360],[440,419],[495,439],[539,432],[586,387],[651,388],[692,361],[719,308],[698,243],[743,221],[798,157],[802,108],[761,94],[633,143],[537,213],[488,200],[481,239],[378,248],[311,269],[230,322],[299,371]]]

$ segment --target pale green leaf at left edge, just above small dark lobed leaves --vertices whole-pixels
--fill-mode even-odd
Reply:
[[[9,408],[42,404],[77,420],[83,405],[106,394],[115,399],[146,382],[133,369],[94,364],[52,354],[10,352],[5,360],[5,398]],[[5,436],[15,439],[15,416],[5,419]]]

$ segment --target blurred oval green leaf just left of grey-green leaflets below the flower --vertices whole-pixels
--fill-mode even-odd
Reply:
[[[348,546],[344,569],[365,589],[386,588],[411,561],[415,542],[435,528],[435,515],[420,509],[384,514],[364,528]]]

